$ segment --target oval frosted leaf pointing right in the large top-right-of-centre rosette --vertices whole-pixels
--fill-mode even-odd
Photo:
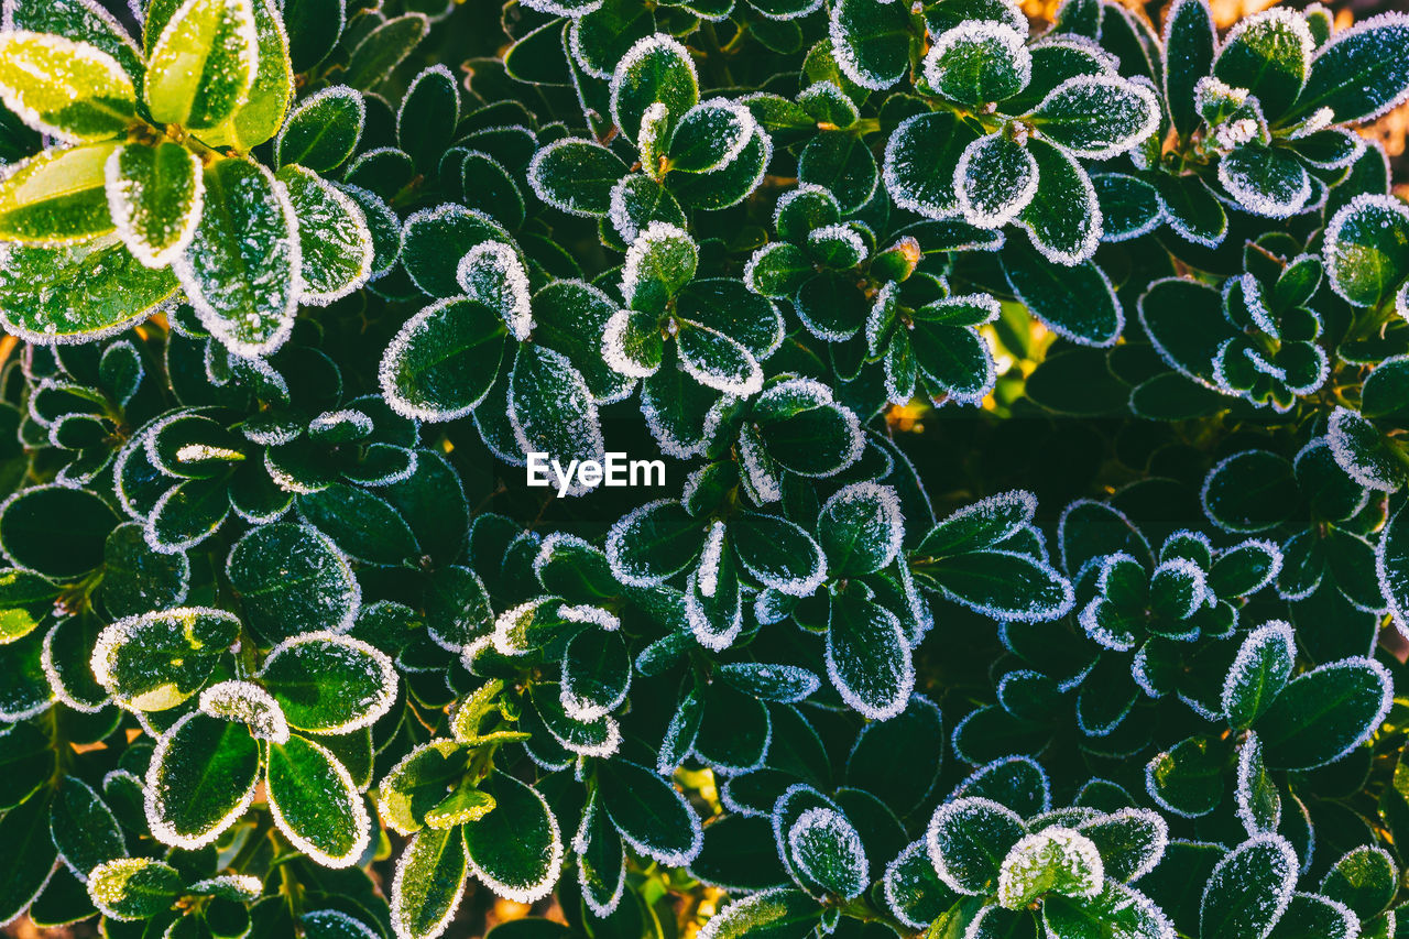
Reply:
[[[1027,120],[1078,156],[1110,159],[1157,130],[1160,103],[1154,92],[1127,79],[1078,75],[1048,92]]]

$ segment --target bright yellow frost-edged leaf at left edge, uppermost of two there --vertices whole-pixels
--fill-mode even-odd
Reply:
[[[137,90],[117,59],[42,32],[0,34],[0,97],[24,123],[70,142],[116,137],[137,118]]]

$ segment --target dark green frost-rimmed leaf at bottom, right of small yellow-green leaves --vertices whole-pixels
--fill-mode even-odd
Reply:
[[[479,788],[495,799],[495,811],[461,829],[469,870],[506,900],[531,904],[547,897],[562,863],[562,836],[548,802],[527,782],[499,771]]]

